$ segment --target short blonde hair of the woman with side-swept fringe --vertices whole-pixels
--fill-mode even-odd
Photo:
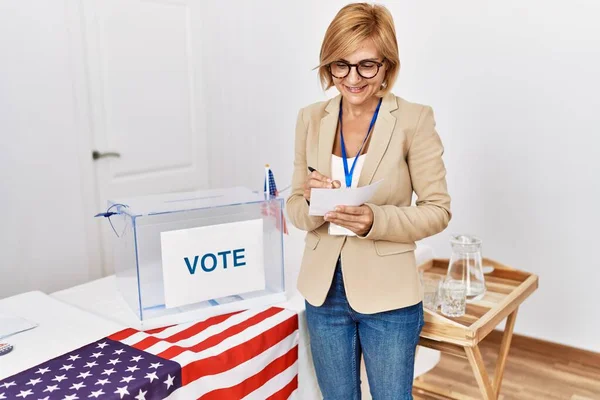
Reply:
[[[386,75],[377,95],[384,96],[391,90],[400,70],[394,19],[384,6],[368,3],[348,4],[329,24],[318,66],[323,89],[333,86],[329,64],[355,51],[366,39],[373,40],[386,63]]]

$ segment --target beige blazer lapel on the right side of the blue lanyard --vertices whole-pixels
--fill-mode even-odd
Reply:
[[[339,103],[338,103],[339,104]],[[363,164],[360,178],[358,180],[358,186],[366,186],[371,183],[375,171],[385,154],[387,147],[392,138],[394,127],[396,125],[396,117],[391,112],[398,109],[398,102],[396,96],[392,93],[388,93],[381,103],[381,109],[379,110],[379,116],[375,123],[371,142],[369,143],[369,149],[366,154],[365,163]],[[320,145],[319,145],[320,149]]]

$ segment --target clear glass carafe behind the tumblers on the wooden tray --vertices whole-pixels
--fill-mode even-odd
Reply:
[[[471,235],[450,238],[452,257],[446,281],[463,284],[467,303],[480,300],[485,294],[485,277],[481,260],[481,239]]]

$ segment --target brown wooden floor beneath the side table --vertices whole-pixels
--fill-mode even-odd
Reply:
[[[481,344],[488,373],[493,374],[500,335],[490,334]],[[417,378],[431,385],[479,399],[477,382],[469,362],[442,355],[440,363]],[[420,394],[415,399],[445,399],[444,396]],[[513,339],[501,400],[600,400],[600,354],[586,352],[525,337]]]

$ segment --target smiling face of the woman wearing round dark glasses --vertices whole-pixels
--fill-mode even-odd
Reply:
[[[345,61],[349,64],[361,64],[361,73],[364,76],[371,76],[367,79],[359,75],[356,67],[350,68],[350,73],[345,78],[336,78],[343,76],[347,68],[343,63],[333,62],[330,66],[333,75],[333,83],[339,92],[344,96],[344,100],[353,105],[361,105],[370,99],[381,89],[381,84],[385,78],[385,63],[377,71],[376,63],[383,63],[375,44],[367,39],[361,43],[356,51],[344,57],[339,61]]]

